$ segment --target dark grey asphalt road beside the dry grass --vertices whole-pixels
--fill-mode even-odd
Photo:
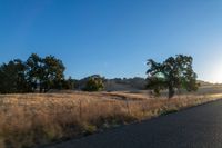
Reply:
[[[49,148],[222,148],[222,100]]]

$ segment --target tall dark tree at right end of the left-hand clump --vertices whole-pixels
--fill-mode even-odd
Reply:
[[[41,58],[37,53],[32,53],[27,60],[27,67],[28,80],[32,91],[36,91],[38,88],[39,92],[47,92],[50,89],[62,89],[65,67],[60,59],[53,56]]]

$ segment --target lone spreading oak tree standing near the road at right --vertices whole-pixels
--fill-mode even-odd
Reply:
[[[198,90],[199,85],[196,83],[196,73],[193,71],[192,62],[192,57],[183,55],[170,57],[162,63],[149,59],[147,87],[154,90],[155,93],[168,89],[169,98],[174,96],[175,89]]]

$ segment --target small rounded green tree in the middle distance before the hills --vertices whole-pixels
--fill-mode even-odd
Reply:
[[[89,77],[83,90],[84,91],[101,91],[104,89],[103,81],[104,81],[104,78],[100,76],[91,76]]]

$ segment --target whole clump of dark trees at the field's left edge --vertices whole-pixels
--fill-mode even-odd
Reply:
[[[62,61],[53,56],[41,58],[32,53],[27,61],[11,60],[0,66],[0,93],[62,89],[67,83],[64,70]]]

